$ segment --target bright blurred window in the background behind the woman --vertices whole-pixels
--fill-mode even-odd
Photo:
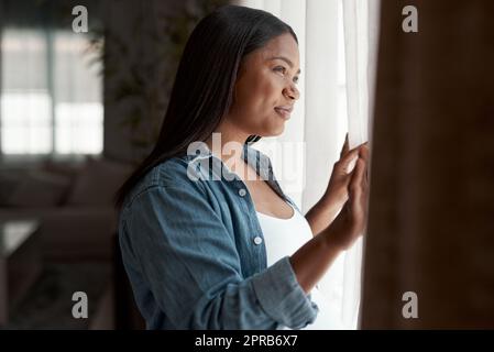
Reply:
[[[87,37],[73,32],[3,31],[2,156],[102,152],[101,65],[87,45]]]

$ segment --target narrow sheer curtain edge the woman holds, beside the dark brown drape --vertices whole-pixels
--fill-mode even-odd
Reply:
[[[373,101],[380,1],[345,0],[343,4],[349,146],[369,141]],[[344,255],[342,319],[358,326],[363,240]]]

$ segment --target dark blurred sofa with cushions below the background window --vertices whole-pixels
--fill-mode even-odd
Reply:
[[[35,218],[46,261],[111,261],[112,197],[132,165],[103,157],[0,169],[0,220]]]

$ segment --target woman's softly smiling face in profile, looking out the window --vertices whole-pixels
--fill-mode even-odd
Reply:
[[[297,42],[288,33],[246,55],[237,79],[229,122],[248,134],[281,134],[299,98],[299,65]]]

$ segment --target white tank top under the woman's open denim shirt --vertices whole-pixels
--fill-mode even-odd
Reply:
[[[279,219],[256,212],[264,235],[267,266],[273,265],[286,255],[294,254],[300,246],[312,239],[312,230],[306,218],[292,205],[289,206],[294,210],[289,219]],[[337,328],[337,317],[331,314],[327,298],[317,287],[310,292],[310,295],[312,301],[319,308],[319,314],[315,322],[304,329],[328,330]]]

